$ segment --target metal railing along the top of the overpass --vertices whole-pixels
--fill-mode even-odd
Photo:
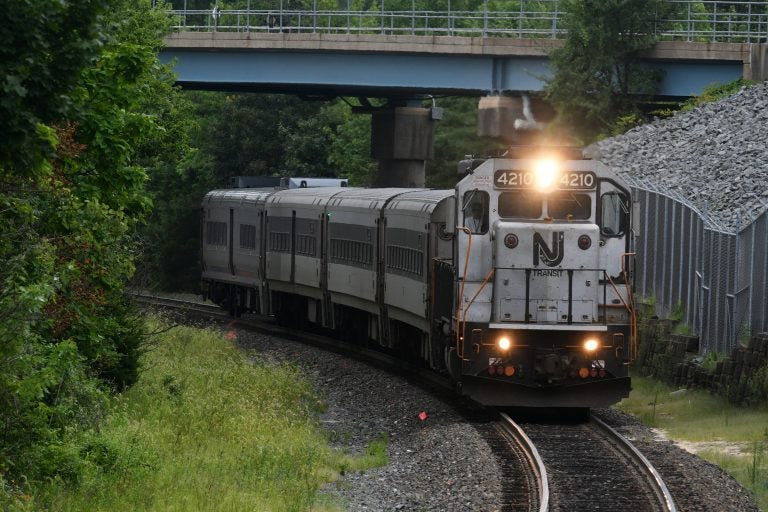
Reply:
[[[286,0],[287,1],[287,0]],[[220,9],[215,1],[205,10],[170,11],[177,31],[259,33],[380,34],[466,37],[565,37],[559,0],[505,2],[515,9],[497,11],[488,2],[477,10],[325,10],[318,0],[305,0],[305,8]],[[347,5],[351,6],[351,0]],[[177,0],[176,5],[185,5]],[[242,2],[263,5],[258,0]],[[311,8],[306,7],[312,4]],[[381,2],[386,7],[386,0]],[[440,5],[439,1],[434,2]],[[768,2],[666,0],[665,14],[654,21],[654,35],[662,40],[699,42],[766,42]],[[415,3],[413,4],[415,5]]]

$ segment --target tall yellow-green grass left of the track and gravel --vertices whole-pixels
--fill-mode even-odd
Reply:
[[[83,443],[86,477],[39,489],[39,508],[340,510],[321,487],[387,463],[386,437],[360,456],[330,448],[301,370],[248,357],[218,333],[172,329],[143,363]]]

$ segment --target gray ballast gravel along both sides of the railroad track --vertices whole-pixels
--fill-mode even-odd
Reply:
[[[482,432],[487,423],[456,412],[429,390],[342,355],[248,331],[241,345],[261,357],[299,365],[327,403],[320,421],[339,448],[361,453],[382,434],[389,463],[345,474],[323,492],[354,511],[498,511],[502,470]],[[420,412],[428,415],[418,419]],[[748,491],[723,470],[613,409],[594,414],[629,437],[657,467],[688,511],[759,511]],[[597,504],[596,504],[597,505]]]

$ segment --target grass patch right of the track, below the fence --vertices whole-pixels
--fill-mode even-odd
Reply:
[[[618,409],[675,441],[733,443],[740,455],[708,448],[698,453],[751,490],[768,510],[768,408],[736,407],[700,390],[675,390],[653,379],[633,377],[632,393]]]

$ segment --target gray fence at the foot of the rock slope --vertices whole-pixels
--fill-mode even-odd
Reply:
[[[734,233],[685,198],[625,176],[640,206],[637,293],[729,352],[768,329],[768,212]]]

